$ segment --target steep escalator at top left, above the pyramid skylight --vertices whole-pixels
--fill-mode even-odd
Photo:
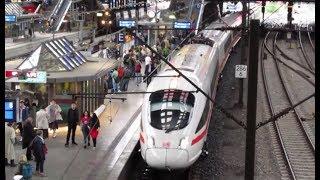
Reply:
[[[72,0],[59,0],[56,7],[52,11],[50,15],[50,25],[52,27],[52,31],[59,31],[62,21],[66,16]]]

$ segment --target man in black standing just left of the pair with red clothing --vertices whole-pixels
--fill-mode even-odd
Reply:
[[[72,144],[78,145],[74,139],[78,122],[79,122],[79,111],[76,108],[76,103],[72,103],[71,108],[68,110],[68,134],[67,134],[67,139],[65,144],[66,147],[69,146],[71,131],[72,131],[72,137],[71,137]]]

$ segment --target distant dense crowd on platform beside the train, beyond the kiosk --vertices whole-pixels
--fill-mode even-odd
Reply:
[[[167,38],[160,36],[154,50],[161,56],[167,57],[173,48],[174,46]],[[131,78],[135,78],[137,86],[142,83],[143,79],[149,85],[151,78],[157,74],[157,67],[160,64],[160,58],[144,45],[132,46],[123,53],[122,59],[122,63],[105,76],[106,92],[108,90],[111,90],[112,93],[127,91]],[[143,64],[144,72],[142,72]]]

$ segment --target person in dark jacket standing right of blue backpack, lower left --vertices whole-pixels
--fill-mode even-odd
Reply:
[[[43,133],[41,130],[37,130],[36,137],[32,141],[31,147],[36,160],[35,175],[46,177],[46,175],[43,172],[43,165],[46,159],[46,153],[48,153],[48,149],[44,142]]]

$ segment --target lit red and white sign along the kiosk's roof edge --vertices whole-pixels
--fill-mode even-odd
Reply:
[[[47,83],[47,72],[45,71],[29,71],[26,72],[26,79],[19,79],[19,71],[6,71],[5,77],[9,78],[6,82],[17,83]]]

